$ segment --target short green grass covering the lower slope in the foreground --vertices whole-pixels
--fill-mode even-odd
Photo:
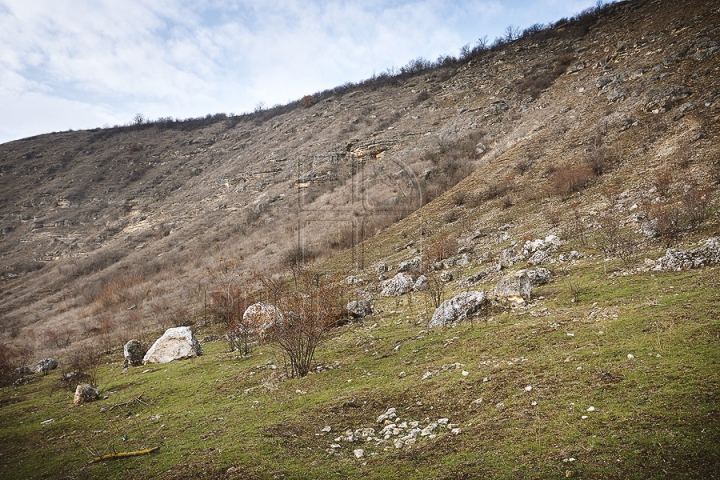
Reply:
[[[122,374],[120,356],[110,358],[100,373],[108,398],[74,407],[53,372],[2,392],[0,477],[717,478],[718,272],[609,279],[588,260],[568,272],[582,285],[577,302],[556,272],[527,309],[431,331],[420,296],[381,299],[384,312],[317,352],[333,368],[302,379],[282,378],[271,346],[241,357],[211,343],[148,373]],[[379,430],[388,407],[408,421],[450,418],[462,433],[400,450],[339,442],[328,453],[346,429]]]

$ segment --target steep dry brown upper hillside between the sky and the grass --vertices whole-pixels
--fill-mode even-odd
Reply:
[[[711,2],[619,3],[594,24],[324,92],[308,108],[4,144],[4,338],[52,350],[181,323],[205,305],[218,258],[268,271],[327,255],[471,171],[465,190],[499,189],[534,222],[580,189],[548,191],[561,182],[549,172],[568,165],[594,162],[602,180],[568,175],[636,201],[663,168],[675,189],[713,184],[717,15]],[[362,269],[362,251],[344,268]]]

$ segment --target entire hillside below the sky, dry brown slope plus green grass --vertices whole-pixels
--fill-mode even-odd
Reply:
[[[0,340],[33,361],[107,352],[97,403],[72,407],[60,372],[0,393],[0,476],[717,478],[717,244],[700,268],[659,259],[720,236],[718,20],[619,2],[304,106],[0,145]],[[550,235],[547,258],[523,251]],[[311,257],[373,303],[312,375],[217,337],[120,373],[127,340],[222,335],[223,282]],[[441,300],[526,268],[549,283],[428,328],[427,292],[380,293],[415,257]],[[391,407],[460,431],[360,438]]]

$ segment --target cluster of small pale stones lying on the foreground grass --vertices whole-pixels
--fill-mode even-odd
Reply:
[[[346,430],[343,435],[335,437],[335,443],[327,449],[328,453],[334,453],[335,450],[342,448],[342,443],[373,442],[375,445],[384,445],[386,449],[392,447],[400,449],[414,445],[421,438],[436,438],[443,431],[448,431],[453,435],[459,435],[462,432],[458,425],[450,423],[448,418],[439,418],[425,426],[417,420],[402,421],[394,407],[388,408],[385,413],[380,415],[377,423],[382,425],[380,430],[371,427],[358,428],[355,431]],[[329,433],[331,428],[328,426],[322,431]],[[361,458],[365,452],[362,449],[355,449],[353,453],[356,457]]]

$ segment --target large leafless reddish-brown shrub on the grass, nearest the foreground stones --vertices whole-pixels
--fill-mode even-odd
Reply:
[[[323,275],[298,268],[295,288],[285,291],[276,306],[283,312],[271,329],[291,377],[304,377],[315,350],[328,332],[347,318],[344,282],[338,275]]]

